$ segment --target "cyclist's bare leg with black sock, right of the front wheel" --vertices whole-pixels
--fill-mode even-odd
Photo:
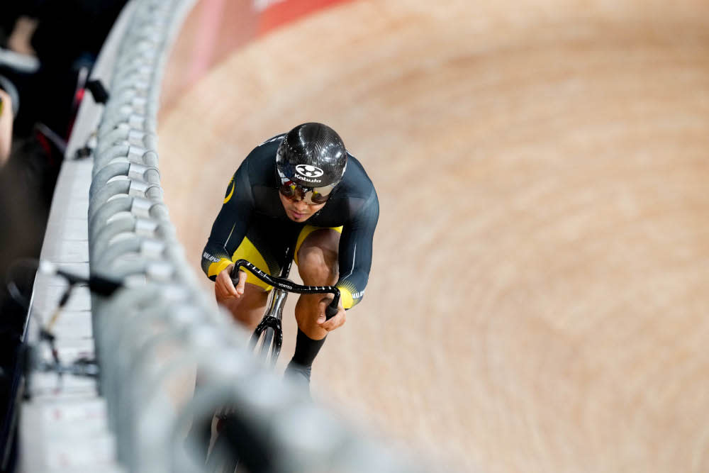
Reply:
[[[305,230],[304,230],[305,231]],[[337,248],[340,232],[332,228],[312,230],[298,247],[298,274],[308,286],[331,286],[337,282]],[[318,325],[318,306],[323,294],[303,294],[296,303],[298,337],[296,351],[286,372],[310,382],[313,360],[325,343],[327,330]]]

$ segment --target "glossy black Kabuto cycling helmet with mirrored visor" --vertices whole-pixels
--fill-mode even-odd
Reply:
[[[276,170],[281,194],[324,204],[342,179],[347,150],[335,130],[322,123],[296,126],[281,141],[276,152]]]

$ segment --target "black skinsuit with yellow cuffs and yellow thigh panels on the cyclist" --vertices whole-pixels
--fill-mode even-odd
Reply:
[[[241,163],[228,184],[224,204],[214,221],[202,253],[202,269],[214,280],[225,267],[239,258],[277,275],[286,247],[303,240],[318,228],[334,228],[342,233],[339,249],[342,306],[351,308],[364,295],[372,265],[372,237],[379,218],[379,201],[372,181],[352,155],[347,169],[327,204],[305,223],[286,216],[278,195],[276,150],[285,135],[257,146]],[[269,286],[248,273],[247,282]]]

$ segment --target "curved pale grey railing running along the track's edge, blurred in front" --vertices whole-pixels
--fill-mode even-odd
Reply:
[[[250,448],[267,459],[262,471],[417,471],[261,369],[246,351],[245,334],[208,304],[186,265],[160,187],[156,117],[164,61],[192,3],[128,4],[92,74],[104,80],[110,99],[103,113],[82,105],[67,151],[73,156],[95,138],[89,266],[125,285],[110,297],[91,296],[90,304],[118,464],[131,472],[201,471],[187,453],[186,430],[230,404],[245,437],[257,443]],[[200,389],[193,394],[197,370]],[[86,430],[72,443],[95,438],[96,430]],[[91,471],[90,460],[84,465]]]

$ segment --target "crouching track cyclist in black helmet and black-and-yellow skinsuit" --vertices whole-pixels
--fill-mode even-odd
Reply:
[[[325,306],[332,294],[303,294],[296,303],[298,335],[286,373],[309,384],[326,335],[362,300],[378,218],[372,181],[340,135],[322,123],[303,123],[257,146],[238,167],[204,247],[202,269],[215,282],[218,303],[250,329],[272,287],[245,271],[235,286],[230,272],[239,258],[277,275],[286,247],[296,242],[303,284],[340,289],[340,310],[329,321]]]

